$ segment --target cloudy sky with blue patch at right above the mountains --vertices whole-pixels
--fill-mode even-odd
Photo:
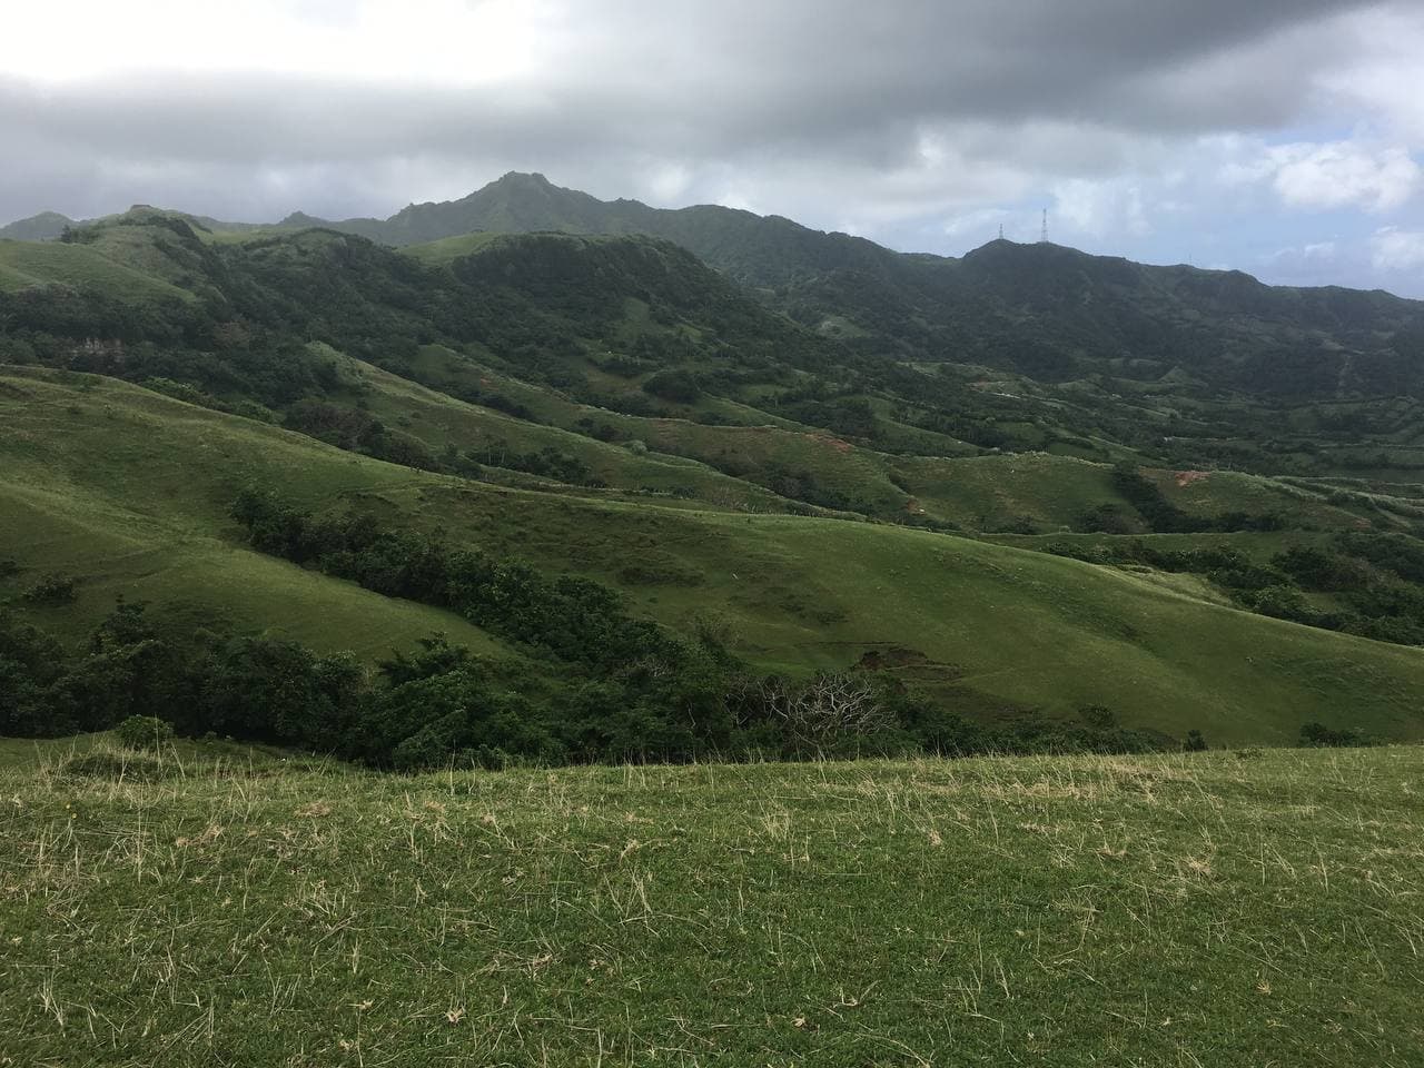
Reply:
[[[540,171],[891,248],[1424,298],[1424,0],[48,0],[0,221],[386,216]]]

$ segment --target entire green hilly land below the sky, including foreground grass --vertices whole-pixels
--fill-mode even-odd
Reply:
[[[1424,1058],[1424,305],[7,231],[0,1068]]]

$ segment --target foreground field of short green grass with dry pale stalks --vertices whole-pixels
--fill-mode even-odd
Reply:
[[[4,1065],[1424,1059],[1424,749],[0,752]]]

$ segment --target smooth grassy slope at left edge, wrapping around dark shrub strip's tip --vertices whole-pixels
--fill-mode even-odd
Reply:
[[[392,601],[236,544],[226,507],[249,478],[276,478],[328,494],[345,484],[404,483],[407,471],[353,464],[333,451],[309,464],[306,439],[87,376],[63,386],[0,376],[0,558],[21,570],[0,578],[9,597],[77,639],[115,597],[152,602],[175,627],[271,631],[319,649],[366,656],[409,648],[436,631],[474,649],[498,645],[450,612]],[[300,477],[298,477],[300,476]],[[50,572],[77,577],[73,604],[47,607],[23,592]]]

